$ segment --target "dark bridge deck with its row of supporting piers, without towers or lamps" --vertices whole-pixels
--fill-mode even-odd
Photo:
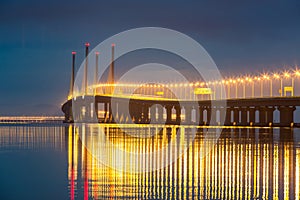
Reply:
[[[217,100],[176,101],[162,99],[130,99],[111,96],[85,96],[68,100],[62,110],[65,121],[99,123],[163,123],[191,125],[240,125],[291,127],[294,111],[300,106],[300,97],[270,97],[228,99],[226,107]],[[129,102],[129,105],[128,105]],[[72,111],[72,104],[84,105]],[[88,105],[88,106],[87,106]],[[219,106],[221,105],[221,106]],[[129,106],[129,108],[127,108]],[[128,112],[128,111],[129,112]],[[279,121],[274,120],[275,114]],[[222,120],[223,119],[223,120]]]

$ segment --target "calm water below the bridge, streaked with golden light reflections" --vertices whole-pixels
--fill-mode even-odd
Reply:
[[[300,129],[216,132],[2,124],[0,199],[300,199]]]

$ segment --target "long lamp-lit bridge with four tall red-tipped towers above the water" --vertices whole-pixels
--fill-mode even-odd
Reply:
[[[86,43],[86,57],[88,48]],[[74,92],[73,88],[76,52],[72,52],[70,94],[62,105],[65,122],[299,126],[294,117],[300,106],[297,67],[208,82],[115,83],[114,48],[113,44],[106,82],[88,85],[85,63],[82,93]],[[98,56],[96,52],[95,77]]]

